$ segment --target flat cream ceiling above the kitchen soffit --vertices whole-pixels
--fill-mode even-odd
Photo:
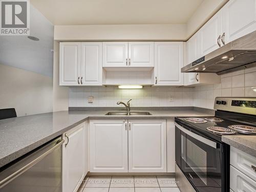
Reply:
[[[30,0],[54,25],[186,24],[203,0]]]

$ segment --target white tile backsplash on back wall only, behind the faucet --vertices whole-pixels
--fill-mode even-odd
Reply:
[[[144,87],[143,89],[118,89],[118,87],[72,87],[69,106],[121,106],[118,101],[131,101],[131,106],[193,106],[194,88]],[[89,103],[88,97],[94,102]],[[169,101],[169,97],[173,101]]]

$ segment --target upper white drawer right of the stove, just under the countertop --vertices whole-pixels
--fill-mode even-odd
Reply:
[[[256,167],[255,157],[248,155],[237,148],[230,147],[230,164],[256,181],[256,172],[252,168],[252,166]]]

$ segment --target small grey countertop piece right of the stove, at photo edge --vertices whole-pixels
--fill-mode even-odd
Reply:
[[[256,157],[256,136],[255,135],[229,135],[222,136],[221,140],[230,146]]]

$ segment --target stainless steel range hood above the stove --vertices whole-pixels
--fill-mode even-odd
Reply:
[[[181,72],[224,74],[256,66],[256,31],[181,68]]]

